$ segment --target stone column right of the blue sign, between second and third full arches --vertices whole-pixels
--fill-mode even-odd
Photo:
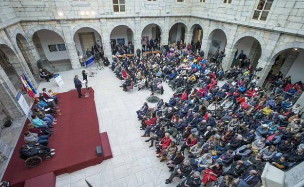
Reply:
[[[106,57],[108,57],[109,62],[112,62],[112,50],[111,50],[111,40],[110,40],[110,34],[108,32],[108,26],[107,22],[103,19],[100,19],[101,24],[101,41],[103,46],[103,52],[105,53]]]

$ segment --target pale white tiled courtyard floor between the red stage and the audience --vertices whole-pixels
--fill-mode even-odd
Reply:
[[[85,180],[93,187],[175,187],[180,180],[174,179],[172,184],[165,184],[165,179],[170,176],[169,169],[156,158],[155,148],[149,148],[150,143],[144,142],[147,138],[140,137],[143,131],[139,130],[140,122],[135,111],[146,101],[150,92],[137,91],[136,87],[124,92],[119,87],[120,81],[109,68],[92,69],[97,74],[94,78],[89,77],[88,82],[95,90],[99,131],[108,132],[114,157],[99,165],[57,176],[56,187],[87,187]],[[61,72],[64,85],[60,88],[52,79],[50,83],[41,83],[38,90],[42,90],[42,87],[59,92],[73,89],[73,78],[75,74],[82,77],[81,70]],[[164,84],[164,89],[164,95],[155,95],[169,101],[173,92],[168,84]]]

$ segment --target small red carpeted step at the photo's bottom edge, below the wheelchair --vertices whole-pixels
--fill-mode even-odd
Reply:
[[[56,187],[56,175],[49,172],[38,177],[28,179],[24,183],[24,187]]]

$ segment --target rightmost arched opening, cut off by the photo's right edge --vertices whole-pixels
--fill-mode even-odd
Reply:
[[[304,49],[289,48],[275,54],[271,62],[274,62],[270,71],[276,74],[282,72],[283,77],[291,76],[292,83],[304,82],[303,72]]]

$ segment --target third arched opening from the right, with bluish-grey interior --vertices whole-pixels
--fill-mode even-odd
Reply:
[[[221,51],[224,51],[227,45],[227,37],[223,30],[213,30],[208,40],[210,41],[210,47],[208,51],[208,59],[217,59]]]

